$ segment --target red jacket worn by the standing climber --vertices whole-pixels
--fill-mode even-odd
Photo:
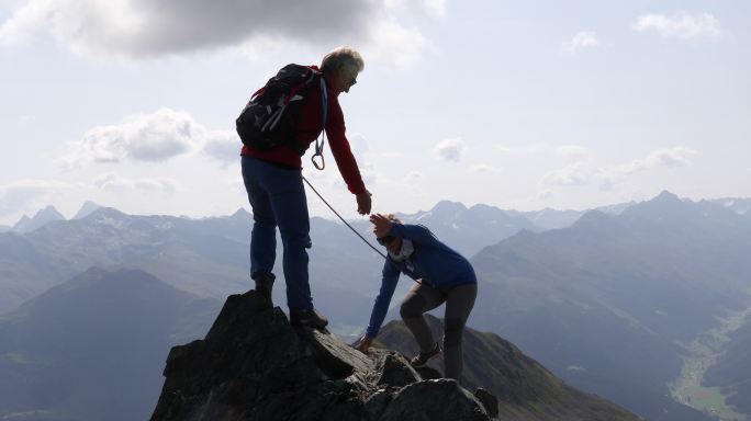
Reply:
[[[317,70],[317,67],[311,66]],[[341,178],[347,183],[347,189],[354,194],[366,192],[360,170],[357,161],[349,149],[349,141],[345,136],[344,113],[339,105],[337,95],[328,89],[328,114],[326,117],[326,138],[330,146],[332,153],[339,168]],[[296,123],[295,132],[298,141],[310,146],[321,135],[321,123],[323,122],[321,89],[313,87],[303,103],[300,120]],[[268,162],[276,162],[291,168],[302,169],[302,159],[298,151],[288,146],[280,146],[271,150],[257,150],[248,146],[243,146],[240,152],[244,157],[254,157]]]

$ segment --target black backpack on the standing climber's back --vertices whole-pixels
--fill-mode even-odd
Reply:
[[[307,145],[296,143],[294,125],[303,100],[316,88],[322,90],[322,124],[325,127],[327,99],[323,75],[310,67],[292,64],[284,66],[264,88],[254,93],[235,121],[243,144],[257,150],[289,145],[301,156],[305,153]],[[316,151],[317,149],[316,147]]]

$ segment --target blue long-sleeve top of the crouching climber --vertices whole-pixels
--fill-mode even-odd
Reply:
[[[396,262],[391,259],[391,255],[386,257],[383,263],[381,291],[375,297],[370,323],[366,330],[369,338],[375,338],[381,329],[400,274],[404,273],[413,280],[421,280],[436,287],[477,284],[478,282],[470,262],[456,250],[440,242],[426,227],[393,224],[389,235],[412,240],[414,251],[404,262]]]

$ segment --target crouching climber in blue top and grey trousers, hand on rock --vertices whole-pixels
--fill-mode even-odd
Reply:
[[[440,354],[423,315],[446,303],[444,316],[444,372],[461,382],[463,359],[461,338],[478,295],[478,281],[470,262],[439,241],[422,225],[402,224],[393,215],[370,217],[378,242],[389,251],[383,264],[381,289],[375,297],[370,323],[356,348],[368,352],[378,335],[396,288],[400,274],[416,281],[410,288],[400,314],[417,341],[419,353],[411,360],[422,366]]]

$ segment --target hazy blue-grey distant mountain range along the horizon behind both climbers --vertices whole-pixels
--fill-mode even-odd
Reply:
[[[567,384],[639,416],[709,420],[714,401],[679,387],[691,375],[720,391],[711,389],[714,400],[751,413],[744,352],[751,320],[739,316],[751,303],[746,203],[692,202],[663,192],[583,213],[568,225],[571,212],[541,210],[531,220],[451,202],[400,217],[425,224],[472,257],[480,295],[469,326],[512,341]],[[542,229],[557,220],[551,215],[559,226]],[[0,314],[91,266],[112,265],[145,270],[194,299],[216,303],[251,287],[250,225],[242,209],[189,219],[101,207],[80,219],[0,234]],[[368,223],[352,225],[372,238]],[[368,321],[382,258],[338,223],[312,218],[311,227],[314,303],[332,319],[333,331],[352,339]],[[283,305],[279,266],[276,273],[274,303]],[[400,283],[389,318],[399,317],[397,296],[410,284]],[[716,337],[721,340],[709,346],[714,365],[686,372],[692,361],[704,361],[697,349]]]

